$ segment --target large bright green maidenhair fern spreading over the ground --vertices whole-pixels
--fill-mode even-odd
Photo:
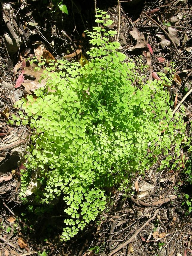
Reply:
[[[20,196],[27,202],[33,193],[31,202],[42,207],[63,198],[64,241],[105,209],[110,188],[129,191],[135,172],[149,169],[159,155],[164,167],[179,161],[185,133],[163,87],[171,77],[145,81],[145,69],[118,51],[109,15],[98,13],[102,26],[87,31],[89,62],[50,63],[46,88],[18,102],[26,113],[19,112],[22,123],[36,131],[21,170]]]

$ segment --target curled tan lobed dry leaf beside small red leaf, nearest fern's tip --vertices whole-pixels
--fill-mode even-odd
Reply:
[[[137,43],[135,46],[129,47],[128,51],[132,51],[137,48],[145,48],[147,46],[147,44],[148,44],[148,34],[147,33],[141,33],[138,31],[138,29],[133,27],[133,30],[130,31],[130,34],[132,35],[132,37],[135,40],[137,40]]]

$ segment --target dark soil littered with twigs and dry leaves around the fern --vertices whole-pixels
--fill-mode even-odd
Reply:
[[[167,169],[159,173],[153,166],[144,176],[138,174],[132,180],[132,195],[126,199],[114,190],[113,204],[67,243],[59,240],[62,202],[49,214],[34,217],[18,197],[22,157],[32,130],[7,121],[17,113],[14,103],[34,90],[21,85],[22,63],[28,57],[40,56],[43,49],[52,59],[62,58],[79,47],[86,56],[89,44],[83,31],[96,25],[95,2],[64,1],[66,15],[51,7],[48,0],[0,1],[0,255],[191,255],[192,218],[183,202],[185,194],[190,198],[192,194],[183,174],[185,160],[180,171]],[[175,63],[174,86],[165,89],[176,106],[191,90],[190,1],[120,2],[120,51],[136,63],[141,56],[143,65],[149,65],[151,78]],[[113,29],[118,30],[118,1],[97,0],[96,6],[107,11],[114,21]],[[133,28],[145,40],[148,38],[145,47],[135,47]],[[74,58],[78,60],[79,55],[69,60]],[[183,102],[186,136],[191,136],[191,99],[189,94]]]

